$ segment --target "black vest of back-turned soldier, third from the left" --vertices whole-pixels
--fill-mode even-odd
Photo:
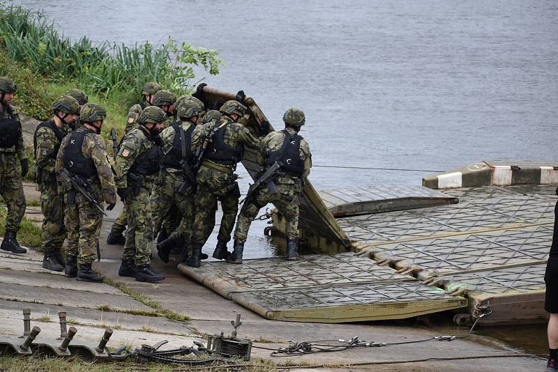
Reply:
[[[66,142],[62,162],[64,168],[70,173],[77,174],[82,178],[97,176],[97,169],[92,159],[87,159],[82,153],[83,139],[86,134],[95,133],[89,128],[78,129],[70,134]]]

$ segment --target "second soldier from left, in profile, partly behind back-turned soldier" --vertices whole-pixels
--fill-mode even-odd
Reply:
[[[45,256],[43,268],[62,271],[64,260],[60,253],[66,227],[64,226],[64,196],[56,183],[56,155],[62,139],[75,128],[80,115],[80,104],[70,95],[61,95],[52,102],[54,115],[45,123],[40,123],[33,136],[35,167],[33,180],[40,190],[40,209],[43,211],[43,225],[40,237],[43,240]]]

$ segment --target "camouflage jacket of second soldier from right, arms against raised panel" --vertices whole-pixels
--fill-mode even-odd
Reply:
[[[223,141],[231,147],[236,147],[238,144],[243,144],[250,148],[258,148],[259,139],[254,137],[250,131],[242,124],[235,123],[228,116],[223,116],[220,120],[220,125],[225,125],[225,135]],[[209,132],[213,129],[215,123],[210,121],[204,125],[197,125],[192,134],[192,148],[196,149],[204,144],[204,140]],[[211,162],[210,160],[204,160]],[[212,163],[212,162],[211,162]]]

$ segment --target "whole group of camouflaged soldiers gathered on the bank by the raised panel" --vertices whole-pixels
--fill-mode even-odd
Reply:
[[[163,262],[169,262],[170,254],[179,254],[179,263],[199,268],[208,258],[202,247],[215,226],[218,202],[223,217],[214,258],[242,263],[250,224],[267,203],[273,203],[287,221],[287,259],[298,257],[298,195],[312,166],[308,143],[299,135],[306,120],[303,111],[288,109],[284,130],[250,131],[243,92],[218,110],[209,109],[204,85],[193,95],[176,98],[156,82],[144,84],[143,102],[130,108],[119,144],[112,131],[113,160],[100,137],[107,116],[104,107],[88,102],[79,89],[52,103],[52,118],[40,123],[33,137],[33,180],[44,215],[44,268],[64,271],[77,280],[103,281],[91,265],[98,250],[103,203],[112,210],[116,195],[124,206],[107,244],[124,246],[121,277],[165,279],[151,266],[154,239]],[[11,79],[0,77],[0,194],[8,210],[1,249],[24,254],[16,235],[26,208],[22,177],[29,162],[17,110],[11,104],[15,91]],[[257,150],[262,170],[238,213],[241,192],[234,171],[245,146]],[[228,251],[235,220],[233,250]],[[66,260],[61,254],[65,240]]]

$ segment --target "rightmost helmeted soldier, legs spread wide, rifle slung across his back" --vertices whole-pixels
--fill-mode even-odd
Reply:
[[[260,186],[248,195],[242,206],[234,231],[234,251],[227,258],[229,263],[242,263],[244,242],[248,229],[259,210],[267,203],[273,203],[287,220],[287,260],[296,260],[297,238],[299,236],[299,194],[303,180],[310,173],[312,155],[310,147],[299,136],[306,118],[300,109],[288,109],[283,115],[284,130],[267,134],[259,144],[257,164],[269,167],[275,162],[282,163],[278,173],[273,177],[277,193],[271,194],[269,187]]]

